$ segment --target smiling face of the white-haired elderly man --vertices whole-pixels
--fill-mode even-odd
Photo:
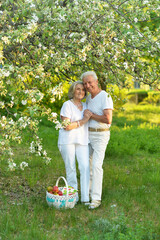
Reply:
[[[84,77],[83,84],[85,89],[91,94],[94,94],[98,89],[98,80],[95,80],[92,76]]]

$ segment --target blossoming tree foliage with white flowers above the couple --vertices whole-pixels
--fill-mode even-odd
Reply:
[[[88,70],[96,71],[102,89],[130,87],[128,79],[159,89],[159,27],[158,0],[3,1],[0,116],[56,121],[58,84]]]

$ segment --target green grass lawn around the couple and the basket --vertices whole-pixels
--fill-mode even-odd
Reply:
[[[58,132],[42,121],[39,136],[52,157],[49,165],[28,154],[25,133],[23,145],[14,145],[15,158],[29,167],[9,172],[5,161],[0,163],[0,239],[160,239],[160,107],[125,107],[114,112],[102,205],[93,211],[80,203],[61,211],[47,206],[46,187],[65,176]]]

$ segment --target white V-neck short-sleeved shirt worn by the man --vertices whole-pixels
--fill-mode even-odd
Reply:
[[[86,100],[87,108],[97,115],[103,115],[104,109],[113,110],[113,101],[111,96],[104,90],[100,91],[94,98],[91,98],[91,95],[87,97]],[[92,128],[108,128],[111,125],[107,123],[97,122],[93,119],[89,120],[89,127]]]

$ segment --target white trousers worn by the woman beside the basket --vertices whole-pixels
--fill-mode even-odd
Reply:
[[[88,145],[63,144],[58,145],[65,163],[66,178],[69,186],[78,190],[76,159],[80,171],[81,201],[89,201],[89,147]],[[78,201],[78,196],[77,196]]]

